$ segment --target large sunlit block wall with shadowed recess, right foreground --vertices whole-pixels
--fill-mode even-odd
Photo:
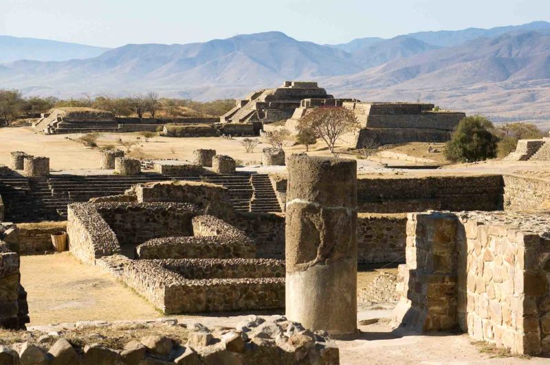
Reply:
[[[549,214],[414,213],[407,233],[401,325],[550,354]]]

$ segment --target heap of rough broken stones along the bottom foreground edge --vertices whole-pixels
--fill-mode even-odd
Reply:
[[[124,327],[129,329],[162,329],[162,326],[172,327],[171,333],[178,332],[178,326],[186,327],[170,319],[124,321]],[[0,346],[0,364],[340,364],[338,347],[326,332],[311,332],[284,316],[272,316],[267,321],[250,316],[236,327],[212,329],[194,323],[188,329],[181,328],[182,335],[187,332],[186,343],[153,334],[131,340],[122,349],[104,346],[109,338],[102,335],[95,336],[97,343],[89,344],[83,343],[86,341],[83,338],[72,337],[73,333],[98,327],[114,328],[114,323],[77,322],[62,326],[59,331],[49,327],[26,332],[22,336],[25,342]],[[113,337],[117,335],[120,333]]]

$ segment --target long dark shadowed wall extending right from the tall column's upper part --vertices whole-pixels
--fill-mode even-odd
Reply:
[[[503,209],[503,193],[503,178],[498,175],[358,180],[363,213],[498,211]]]

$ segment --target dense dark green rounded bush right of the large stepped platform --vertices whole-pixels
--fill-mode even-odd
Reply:
[[[484,161],[496,157],[498,137],[485,117],[465,117],[445,145],[445,157],[452,162]]]

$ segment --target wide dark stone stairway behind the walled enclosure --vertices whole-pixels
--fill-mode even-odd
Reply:
[[[236,211],[281,212],[270,179],[265,174],[227,174],[176,177],[159,174],[141,176],[56,175],[49,178],[0,178],[0,196],[5,204],[5,220],[40,222],[65,220],[67,204],[90,198],[122,194],[132,185],[165,180],[205,181],[228,189]]]

